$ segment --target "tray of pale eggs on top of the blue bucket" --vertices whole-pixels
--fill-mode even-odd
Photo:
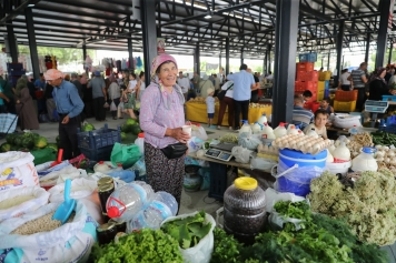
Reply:
[[[323,138],[308,136],[304,134],[289,134],[277,138],[273,142],[273,146],[280,150],[290,149],[315,155],[333,145],[333,143],[334,141],[328,139],[324,140]]]

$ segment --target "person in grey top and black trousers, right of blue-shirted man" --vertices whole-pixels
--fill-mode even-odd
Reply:
[[[92,88],[95,119],[106,121],[105,102],[107,101],[106,84],[99,71],[95,71],[95,78],[89,81],[88,88]]]

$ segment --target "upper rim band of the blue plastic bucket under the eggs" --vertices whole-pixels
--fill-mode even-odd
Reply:
[[[279,151],[279,161],[283,161],[288,168],[291,168],[295,164],[298,164],[298,166],[325,168],[326,159],[327,159],[326,150],[315,155],[309,153],[303,153],[300,151],[288,150],[288,149],[284,149]]]

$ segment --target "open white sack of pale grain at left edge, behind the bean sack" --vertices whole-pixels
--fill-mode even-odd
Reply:
[[[48,203],[49,193],[33,186],[0,192],[0,222],[30,213]]]

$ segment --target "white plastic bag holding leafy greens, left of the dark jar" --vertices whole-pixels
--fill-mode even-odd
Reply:
[[[166,222],[195,216],[197,213],[198,212],[178,215],[178,216],[170,216],[161,223],[161,226]],[[201,239],[198,242],[196,246],[187,250],[179,247],[181,256],[185,260],[185,263],[209,263],[211,252],[214,251],[214,244],[215,244],[214,229],[216,226],[216,221],[210,214],[206,213],[205,223],[211,223],[210,231],[204,239]]]

